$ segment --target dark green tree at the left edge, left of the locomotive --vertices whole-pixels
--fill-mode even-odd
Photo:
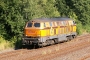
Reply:
[[[0,1],[1,35],[11,38],[21,32],[24,20],[19,12],[19,4],[15,0]]]

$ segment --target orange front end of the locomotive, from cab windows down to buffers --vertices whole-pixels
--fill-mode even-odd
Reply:
[[[23,45],[38,44],[41,37],[41,29],[44,28],[42,22],[27,22],[22,38]]]

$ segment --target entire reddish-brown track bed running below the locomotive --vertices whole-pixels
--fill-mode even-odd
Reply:
[[[90,34],[38,49],[20,49],[0,54],[0,60],[88,60]]]

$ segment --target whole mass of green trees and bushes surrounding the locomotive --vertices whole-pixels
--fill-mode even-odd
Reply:
[[[0,0],[0,47],[19,47],[25,23],[41,17],[73,18],[77,33],[88,33],[89,6],[90,0]]]

